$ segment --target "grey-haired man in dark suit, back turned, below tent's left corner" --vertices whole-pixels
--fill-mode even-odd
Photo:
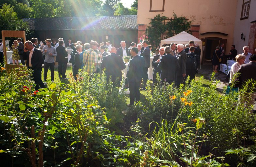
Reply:
[[[177,80],[177,68],[179,67],[177,58],[171,55],[171,47],[167,46],[164,49],[166,55],[163,55],[158,64],[161,69],[161,83],[165,81],[172,84]]]

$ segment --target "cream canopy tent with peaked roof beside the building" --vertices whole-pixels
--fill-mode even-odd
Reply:
[[[197,43],[201,49],[201,55],[200,55],[200,68],[201,68],[201,64],[202,64],[202,53],[203,53],[203,42],[194,37],[191,34],[186,33],[185,31],[182,31],[181,33],[174,35],[173,37],[161,40],[161,45],[163,45],[163,43],[165,44],[171,44],[171,43],[175,43],[177,44],[188,44],[188,41],[194,41],[195,43]]]

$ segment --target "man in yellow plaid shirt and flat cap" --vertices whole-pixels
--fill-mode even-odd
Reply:
[[[87,73],[90,73],[91,69],[96,72],[98,65],[98,54],[94,51],[98,48],[98,43],[95,41],[90,42],[90,49],[83,52],[83,64]]]

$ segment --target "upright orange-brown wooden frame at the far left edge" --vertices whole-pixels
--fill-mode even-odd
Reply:
[[[9,30],[2,30],[2,40],[3,40],[3,46],[4,46],[4,55],[5,55],[5,61],[7,62],[7,50],[5,45],[5,37],[17,37],[17,38],[23,38],[23,44],[25,47],[26,42],[26,35],[25,31],[9,31]],[[7,69],[12,68],[20,68],[23,67],[23,65],[16,65],[16,64],[7,64]]]

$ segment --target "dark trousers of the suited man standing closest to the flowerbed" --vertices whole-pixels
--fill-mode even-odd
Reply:
[[[130,82],[129,83],[129,90],[130,90],[130,105],[133,105],[134,102],[138,103],[140,101],[140,81],[137,82]],[[135,100],[136,99],[136,100]]]

